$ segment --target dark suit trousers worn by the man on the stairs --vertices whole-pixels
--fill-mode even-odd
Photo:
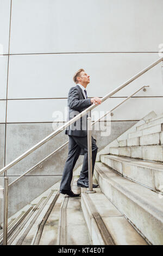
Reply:
[[[60,190],[71,190],[73,168],[79,158],[81,149],[85,151],[85,154],[79,180],[88,182],[87,136],[77,137],[69,135],[68,157],[62,174]],[[96,141],[92,137],[92,171],[95,167],[97,150]]]

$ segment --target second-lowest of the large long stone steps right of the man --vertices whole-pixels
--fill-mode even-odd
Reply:
[[[162,163],[114,155],[101,155],[101,162],[143,186],[163,192]]]

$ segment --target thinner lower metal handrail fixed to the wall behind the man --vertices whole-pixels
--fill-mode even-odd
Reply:
[[[99,119],[97,119],[96,121],[94,121],[91,125],[95,125],[99,120],[101,120],[102,118],[104,118],[106,115],[108,115],[109,113],[111,113],[112,111],[114,111],[117,107],[119,107],[120,105],[122,105],[124,102],[126,102],[127,100],[130,99],[130,97],[132,97],[133,95],[135,95],[136,93],[138,93],[140,90],[142,90],[143,88],[146,88],[149,86],[143,86],[141,87],[139,90],[136,90],[136,92],[134,92],[133,94],[131,94],[130,96],[128,96],[125,100],[123,100],[122,102],[120,102],[116,107],[112,108],[110,111],[106,112],[106,114],[104,114],[102,117],[100,117]],[[58,149],[55,149],[51,154],[49,154],[48,156],[46,156],[44,159],[42,159],[40,162],[36,163],[32,168],[30,168],[29,170],[27,170],[27,172],[23,173],[21,176],[19,176],[16,180],[12,181],[9,186],[13,185],[16,181],[20,180],[23,176],[25,176],[26,174],[28,174],[29,172],[31,172],[33,169],[35,169],[37,166],[39,166],[39,164],[41,164],[42,162],[46,161],[49,157],[51,157],[53,154],[57,153],[60,149],[64,148],[66,145],[68,144],[68,141],[66,143],[64,143],[63,145],[61,145]]]

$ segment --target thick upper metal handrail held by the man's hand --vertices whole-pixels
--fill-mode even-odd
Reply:
[[[115,93],[117,93],[119,90],[121,90],[122,88],[126,87],[129,83],[133,82],[136,78],[140,77],[141,75],[145,74],[145,72],[147,72],[149,69],[152,69],[155,65],[157,65],[158,63],[160,63],[163,60],[163,57],[159,58],[158,60],[156,60],[154,63],[152,63],[151,65],[147,66],[147,68],[141,70],[139,73],[137,73],[135,76],[131,77],[128,81],[126,81],[125,83],[122,83],[121,86],[117,87],[116,89],[112,90],[112,92],[110,92],[109,94],[105,95],[102,98],[102,102],[104,102],[105,100],[109,99],[110,96],[114,95]],[[81,117],[83,117],[83,115],[85,115],[86,113],[88,113],[89,111],[91,111],[93,108],[97,107],[98,105],[96,105],[95,103],[92,104],[92,106],[86,108],[82,113],[79,113],[78,115],[76,115],[76,117],[72,118],[71,120],[69,120],[66,124],[62,125],[61,127],[59,127],[59,129],[55,130],[54,132],[52,132],[50,135],[48,135],[47,137],[45,137],[44,139],[42,139],[42,141],[40,141],[39,143],[37,143],[36,145],[34,145],[32,148],[30,148],[29,150],[27,150],[25,153],[23,153],[22,155],[20,155],[19,157],[17,157],[14,161],[10,162],[9,164],[7,164],[7,166],[3,167],[0,170],[0,175],[3,174],[6,170],[8,170],[9,168],[11,168],[12,166],[14,166],[17,162],[21,161],[22,159],[24,159],[24,157],[28,156],[30,153],[32,153],[33,151],[35,151],[37,148],[40,148],[41,145],[45,144],[47,141],[49,141],[50,139],[52,139],[54,136],[56,136],[58,133],[60,133],[61,131],[63,131],[66,127],[68,127],[69,125],[73,124],[75,121],[77,121],[78,119],[80,119]]]

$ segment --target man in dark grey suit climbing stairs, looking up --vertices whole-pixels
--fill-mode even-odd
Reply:
[[[90,107],[93,103],[96,103],[96,105],[101,104],[101,99],[99,99],[99,97],[87,99],[86,87],[87,84],[90,83],[90,76],[86,74],[84,69],[79,69],[74,75],[73,80],[76,83],[76,86],[72,87],[68,93],[68,120],[84,111],[84,109]],[[66,128],[66,135],[69,137],[68,157],[65,163],[64,172],[62,174],[60,193],[67,194],[70,197],[79,196],[79,194],[74,194],[72,192],[71,181],[73,168],[79,158],[79,155],[81,154],[81,150],[84,152],[84,161],[77,185],[80,187],[89,187],[87,159],[87,116],[88,114],[85,114],[84,117],[78,119],[75,123]],[[95,166],[97,150],[98,148],[96,141],[92,137],[92,170]],[[97,185],[93,184],[93,187],[97,187]]]

